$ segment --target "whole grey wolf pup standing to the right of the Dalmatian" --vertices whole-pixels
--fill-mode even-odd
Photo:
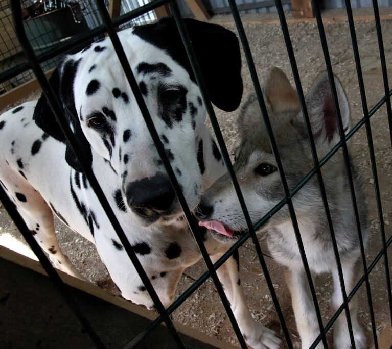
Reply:
[[[344,131],[350,129],[350,111],[347,97],[339,80],[335,78]],[[264,86],[264,97],[272,128],[285,170],[289,188],[292,189],[313,167],[307,133],[296,91],[285,74],[273,68]],[[306,98],[318,157],[321,159],[339,140],[333,100],[327,74],[321,74],[313,83]],[[276,161],[272,155],[269,138],[264,128],[259,105],[254,96],[245,104],[238,120],[242,142],[236,151],[234,169],[253,223],[256,223],[284,197]],[[263,165],[262,165],[263,164]],[[259,166],[272,167],[259,167]],[[265,168],[265,171],[262,171]],[[354,184],[364,241],[367,240],[366,205],[361,182],[354,171]],[[340,254],[345,289],[350,293],[354,286],[355,265],[359,258],[359,243],[354,212],[351,204],[348,179],[341,152],[322,167],[322,177],[327,191],[333,228]],[[331,272],[334,281],[332,306],[342,304],[340,283],[332,242],[321,201],[318,182],[314,176],[292,198],[299,230],[309,267],[313,275]],[[238,206],[237,196],[228,174],[218,179],[202,196],[202,206],[209,214],[203,220],[217,220],[237,231],[232,238],[215,233],[220,240],[233,242],[246,222]],[[309,284],[299,255],[294,229],[285,206],[264,226],[268,248],[273,258],[287,269],[287,283],[291,292],[297,329],[302,347],[308,348],[319,335],[318,321],[312,302]],[[357,348],[365,347],[365,336],[357,320],[357,301],[349,303],[351,322]],[[320,343],[317,347],[322,347]],[[334,347],[351,347],[344,313],[336,322]]]

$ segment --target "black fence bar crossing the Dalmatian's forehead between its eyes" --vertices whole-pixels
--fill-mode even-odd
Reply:
[[[180,202],[182,210],[183,210],[183,212],[184,212],[184,214],[185,214],[185,216],[186,216],[186,218],[188,220],[190,229],[191,229],[191,231],[192,231],[192,233],[194,235],[194,238],[195,238],[195,240],[197,242],[197,245],[198,245],[199,250],[201,252],[201,255],[202,255],[203,259],[204,259],[204,262],[205,262],[205,264],[207,266],[207,269],[211,273],[211,278],[213,279],[215,287],[217,288],[217,291],[218,291],[219,296],[221,298],[222,304],[223,304],[223,306],[224,306],[224,308],[226,310],[226,313],[227,313],[227,315],[228,315],[228,317],[230,319],[230,322],[232,322],[232,326],[234,328],[234,331],[236,332],[236,335],[237,335],[237,338],[238,338],[238,340],[239,340],[239,342],[241,344],[241,347],[246,348],[246,343],[245,343],[244,337],[242,336],[240,328],[238,327],[237,320],[234,317],[232,309],[230,308],[230,305],[228,303],[227,297],[226,297],[226,295],[224,293],[224,290],[223,290],[222,285],[221,285],[221,283],[219,281],[219,278],[218,278],[218,276],[216,274],[216,271],[215,271],[214,266],[213,266],[213,264],[211,262],[211,259],[210,259],[209,255],[208,255],[207,251],[206,251],[206,248],[204,246],[203,240],[202,240],[201,235],[199,233],[198,227],[197,227],[197,225],[195,223],[195,220],[194,220],[194,218],[193,218],[193,216],[192,216],[192,214],[191,214],[191,212],[189,210],[189,207],[188,207],[188,204],[187,204],[187,202],[185,200],[185,197],[182,194],[180,186],[179,186],[179,184],[177,182],[177,179],[175,177],[174,171],[173,171],[173,169],[172,169],[172,167],[170,165],[169,159],[166,156],[165,148],[164,148],[162,142],[159,139],[159,136],[158,136],[158,133],[157,133],[157,131],[155,129],[154,123],[153,123],[153,121],[151,119],[151,116],[150,116],[150,114],[148,112],[147,106],[146,106],[146,104],[144,102],[144,98],[142,96],[142,93],[139,90],[139,86],[137,86],[135,77],[133,76],[133,73],[132,73],[132,69],[131,69],[131,67],[129,65],[129,62],[127,60],[127,57],[125,55],[124,49],[121,46],[121,43],[120,43],[120,40],[119,40],[119,38],[117,36],[116,30],[114,30],[113,24],[112,24],[112,22],[110,20],[110,17],[108,15],[108,13],[107,13],[107,10],[106,10],[106,7],[105,7],[105,4],[104,4],[103,0],[97,0],[97,5],[98,5],[98,9],[100,11],[100,14],[102,16],[102,19],[105,22],[105,25],[106,25],[109,37],[110,37],[110,39],[111,39],[111,41],[113,43],[113,47],[116,50],[116,53],[117,53],[118,58],[120,60],[120,63],[122,65],[122,67],[123,67],[125,76],[128,79],[128,82],[129,82],[129,84],[131,86],[131,89],[132,89],[132,92],[133,92],[133,94],[135,96],[137,104],[139,105],[139,108],[140,108],[140,110],[142,112],[143,118],[144,118],[144,120],[145,120],[145,122],[147,124],[148,130],[149,130],[149,132],[151,134],[151,137],[152,137],[152,139],[154,141],[154,144],[155,144],[155,147],[157,149],[157,152],[158,152],[160,158],[162,159],[162,162],[163,162],[163,164],[165,166],[165,169],[166,169],[166,171],[168,173],[168,176],[170,178],[171,184],[173,185],[173,188],[174,188],[174,190],[176,192],[176,195],[178,197],[178,201]]]

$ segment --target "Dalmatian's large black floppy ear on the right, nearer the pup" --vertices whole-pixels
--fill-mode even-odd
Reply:
[[[238,108],[242,97],[241,53],[236,35],[221,26],[185,19],[211,102],[224,111]],[[139,26],[133,33],[164,49],[187,69],[195,81],[188,56],[173,18]]]

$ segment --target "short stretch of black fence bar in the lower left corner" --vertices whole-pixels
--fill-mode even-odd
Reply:
[[[26,226],[25,221],[19,215],[19,212],[16,210],[16,206],[11,202],[10,198],[3,190],[3,187],[0,185],[0,201],[4,205],[5,209],[15,222],[16,227],[19,229],[20,233],[26,239],[27,243],[30,245],[31,250],[38,257],[39,262],[41,263],[43,269],[48,274],[51,281],[55,284],[57,290],[64,298],[65,303],[68,304],[68,307],[74,312],[83,328],[86,330],[90,338],[93,340],[94,344],[97,348],[106,348],[105,344],[102,342],[101,338],[95,332],[94,328],[90,325],[87,318],[84,316],[82,311],[80,310],[78,304],[76,303],[74,297],[71,295],[70,287],[66,285],[58,275],[56,269],[52,266],[48,257],[45,256],[41,247],[38,245],[38,242],[35,240],[33,235],[31,234],[30,229]]]

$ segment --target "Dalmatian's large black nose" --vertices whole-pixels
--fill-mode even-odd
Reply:
[[[151,217],[168,211],[175,193],[169,179],[163,173],[158,173],[154,177],[129,183],[126,197],[133,212]]]

